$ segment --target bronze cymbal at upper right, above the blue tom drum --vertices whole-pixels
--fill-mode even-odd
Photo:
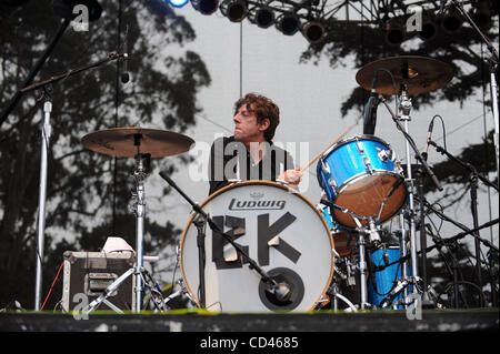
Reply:
[[[442,61],[417,55],[401,55],[376,60],[356,74],[356,81],[371,91],[373,78],[377,73],[376,91],[381,94],[394,94],[391,77],[383,70],[391,72],[396,81],[397,94],[401,85],[407,87],[409,95],[426,93],[444,87],[453,78],[453,69]]]

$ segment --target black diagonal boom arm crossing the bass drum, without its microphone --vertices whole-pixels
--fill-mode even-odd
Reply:
[[[203,209],[200,208],[200,205],[198,205],[197,203],[194,203],[177,184],[176,182],[172,181],[172,179],[170,179],[166,173],[160,172],[160,176],[166,180],[176,191],[179,192],[179,194],[181,194],[186,201],[188,201],[189,204],[191,204],[192,209],[199,214],[201,215],[201,218],[204,219],[204,221],[210,225],[210,229],[212,229],[213,233],[216,234],[220,234],[224,237],[226,241],[228,241],[233,247],[234,250],[237,250],[237,252],[239,254],[241,254],[243,256],[243,259],[250,264],[249,267],[251,270],[256,270],[257,273],[259,273],[259,275],[261,276],[262,281],[268,285],[268,289],[276,289],[278,286],[278,283],[270,277],[264,270],[262,270],[256,261],[253,261],[237,243],[234,243],[234,241],[231,239],[230,235],[228,235],[227,233],[223,232],[223,230],[221,230],[216,222],[203,211]],[[201,272],[201,271],[200,271]]]

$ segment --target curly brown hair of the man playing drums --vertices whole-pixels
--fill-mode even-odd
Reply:
[[[234,115],[243,104],[247,105],[246,108],[249,112],[256,114],[258,123],[269,119],[269,128],[264,131],[264,138],[267,141],[271,141],[274,138],[276,128],[280,123],[280,109],[278,105],[261,94],[247,93],[247,95],[234,103]]]

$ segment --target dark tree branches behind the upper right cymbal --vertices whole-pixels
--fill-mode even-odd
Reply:
[[[498,43],[498,8],[491,2],[491,21],[486,21],[482,31],[493,42]],[[423,6],[423,4],[422,4]],[[494,11],[497,12],[494,12]],[[424,24],[427,18],[423,19]],[[463,104],[477,90],[488,82],[488,65],[481,58],[482,39],[477,31],[464,23],[458,31],[444,31],[441,20],[433,19],[437,34],[429,40],[417,38],[417,32],[410,32],[407,41],[391,43],[386,38],[386,27],[359,22],[340,22],[330,18],[327,23],[326,39],[312,43],[302,53],[301,62],[317,63],[327,59],[332,68],[352,64],[361,69],[366,64],[389,57],[421,55],[438,59],[453,69],[453,80],[440,90],[412,97],[413,109],[421,105],[432,105],[433,102],[448,100]],[[484,57],[488,51],[484,48]],[[398,88],[399,89],[399,88]],[[398,92],[399,94],[399,92]],[[352,90],[350,97],[341,107],[342,115],[350,110],[362,111],[368,91],[361,87]]]

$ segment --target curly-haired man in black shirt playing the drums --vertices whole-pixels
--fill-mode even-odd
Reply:
[[[231,181],[284,181],[297,186],[302,178],[288,151],[272,138],[280,110],[270,99],[248,93],[234,103],[234,134],[216,139],[210,150],[209,182],[212,194]]]

